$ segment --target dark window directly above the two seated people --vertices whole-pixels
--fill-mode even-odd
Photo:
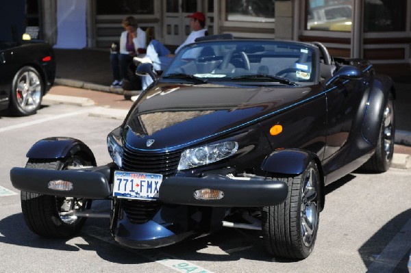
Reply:
[[[154,0],[98,0],[97,15],[154,14]]]

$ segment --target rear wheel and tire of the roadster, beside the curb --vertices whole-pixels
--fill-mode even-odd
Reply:
[[[375,153],[361,166],[360,170],[371,172],[386,172],[393,161],[395,139],[395,109],[393,95],[388,96],[388,103],[384,109],[384,116],[379,129],[379,137]]]

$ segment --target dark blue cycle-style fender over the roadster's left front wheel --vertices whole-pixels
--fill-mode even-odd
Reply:
[[[75,138],[45,138],[36,142],[27,152],[26,157],[37,159],[59,159],[82,152],[86,154],[92,166],[96,159],[84,142]]]

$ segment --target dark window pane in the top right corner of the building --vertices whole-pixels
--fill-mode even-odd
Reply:
[[[407,0],[365,0],[364,32],[405,31]]]

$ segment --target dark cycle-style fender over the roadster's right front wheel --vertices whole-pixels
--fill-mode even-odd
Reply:
[[[319,157],[309,151],[295,148],[285,148],[273,151],[262,161],[261,169],[268,174],[285,176],[297,176],[306,170],[310,161],[315,161],[319,170],[321,182],[321,211],[325,205],[325,179],[323,166]]]

